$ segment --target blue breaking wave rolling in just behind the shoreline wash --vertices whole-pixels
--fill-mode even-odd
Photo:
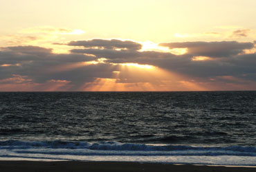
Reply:
[[[256,147],[192,147],[172,144],[136,144],[121,142],[0,141],[0,150],[17,153],[68,155],[240,155],[256,156]],[[76,150],[77,149],[77,150]]]

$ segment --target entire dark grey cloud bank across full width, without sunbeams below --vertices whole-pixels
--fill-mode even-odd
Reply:
[[[92,82],[95,78],[113,77],[113,71],[117,69],[117,66],[111,63],[140,63],[183,74],[199,82],[217,82],[216,80],[210,81],[210,78],[223,76],[256,82],[256,54],[243,53],[244,50],[254,47],[254,43],[249,42],[159,44],[170,47],[170,49],[188,48],[188,52],[183,55],[155,51],[140,52],[142,45],[139,43],[117,39],[71,41],[68,45],[74,46],[70,54],[54,54],[51,49],[35,46],[1,48],[0,80],[11,78],[14,75],[26,76],[34,83],[45,83],[47,80],[68,80],[73,85],[71,90],[76,90],[80,85]],[[208,60],[193,61],[194,56],[207,56]],[[106,63],[58,69],[58,67],[86,61],[96,61],[98,58],[107,58]],[[239,79],[226,80],[226,82],[237,83]]]

